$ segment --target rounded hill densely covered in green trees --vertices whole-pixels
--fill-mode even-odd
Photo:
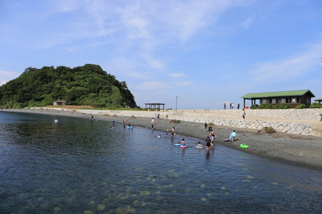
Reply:
[[[96,108],[136,107],[126,82],[119,82],[101,66],[93,64],[75,68],[29,67],[18,78],[0,86],[0,105],[4,108],[52,105],[57,100]]]

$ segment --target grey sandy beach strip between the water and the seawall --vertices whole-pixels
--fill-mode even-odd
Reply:
[[[92,115],[89,114],[55,110],[7,109],[2,110],[2,112],[50,114],[86,119],[90,119],[92,117]],[[125,119],[124,116],[93,116],[95,120],[115,120],[118,123]],[[127,116],[127,118],[130,118],[130,116]],[[133,124],[134,127],[146,128],[151,131],[151,118],[129,119],[126,124],[128,123]],[[170,132],[170,130],[175,127],[176,134],[195,138],[196,140],[194,142],[187,142],[188,146],[196,146],[198,141],[205,146],[205,139],[207,136],[210,137],[208,131],[205,131],[204,124],[201,123],[182,121],[179,124],[173,124],[170,123],[170,120],[164,118],[160,118],[160,120],[155,119],[154,123],[154,130],[162,132],[169,130]],[[223,126],[215,126],[213,130],[215,131],[217,137],[214,142],[214,148],[211,149],[216,149],[216,144],[220,144],[280,163],[322,171],[322,139],[320,137],[300,136],[285,133],[260,134],[257,133],[257,130],[253,129],[240,129]],[[233,143],[224,142],[223,139],[229,138],[233,130],[235,130],[238,140]],[[246,143],[249,148],[240,148],[240,144],[244,143]]]

